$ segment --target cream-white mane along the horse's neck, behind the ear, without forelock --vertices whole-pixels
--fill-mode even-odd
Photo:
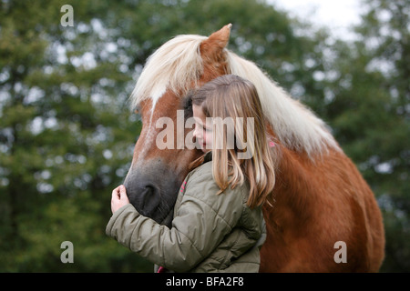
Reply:
[[[255,85],[263,114],[282,144],[296,151],[305,151],[309,156],[322,153],[328,147],[339,149],[323,120],[292,99],[257,65],[228,50],[227,57],[231,74],[248,79]]]

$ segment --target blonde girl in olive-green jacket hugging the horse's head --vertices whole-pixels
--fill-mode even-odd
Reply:
[[[256,88],[237,75],[222,75],[190,98],[193,135],[204,155],[190,165],[172,227],[139,215],[118,186],[106,233],[160,271],[258,272],[265,240],[261,206],[272,193],[274,169]],[[226,121],[226,131],[211,122],[215,117]],[[239,157],[244,152],[248,158]]]

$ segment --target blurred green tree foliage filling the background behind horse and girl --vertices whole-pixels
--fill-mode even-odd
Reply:
[[[385,272],[409,271],[409,11],[364,3],[357,39],[333,39],[257,0],[0,5],[0,271],[150,272],[105,236],[111,190],[141,124],[128,95],[152,52],[232,23],[229,48],[256,62],[333,129],[384,212]],[[60,245],[74,244],[74,264]]]

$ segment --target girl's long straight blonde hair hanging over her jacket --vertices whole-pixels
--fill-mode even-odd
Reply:
[[[231,117],[233,120],[242,117],[243,122],[234,122],[236,143],[233,148],[226,146],[226,138],[230,133],[215,130],[213,126],[212,175],[220,186],[218,194],[230,185],[231,188],[241,186],[247,179],[250,184],[248,206],[261,206],[273,191],[275,173],[265,133],[267,122],[255,86],[238,75],[221,75],[201,86],[190,98],[192,105],[199,105],[206,117]],[[253,121],[251,132],[248,132],[249,120]],[[215,148],[216,144],[224,146]],[[238,154],[244,151],[250,152],[251,157],[238,158]],[[202,161],[203,156],[194,161],[191,167],[199,166]]]

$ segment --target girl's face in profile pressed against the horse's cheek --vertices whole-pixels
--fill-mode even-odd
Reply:
[[[207,125],[206,116],[202,108],[198,105],[192,105],[193,117],[195,119],[195,130],[193,135],[197,139],[202,152],[207,153],[212,148],[212,127]]]

